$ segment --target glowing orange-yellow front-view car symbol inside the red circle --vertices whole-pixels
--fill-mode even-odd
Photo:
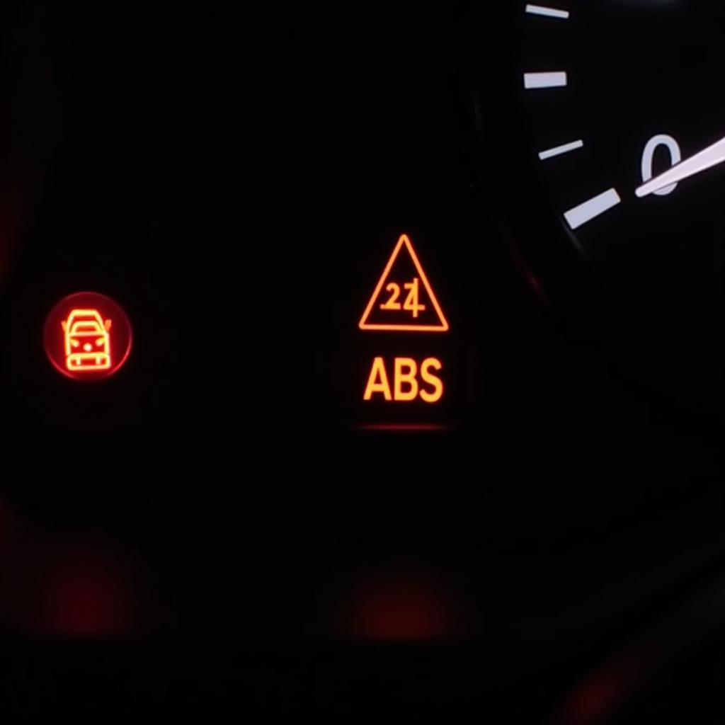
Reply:
[[[83,373],[111,367],[112,320],[101,318],[98,310],[72,310],[60,323],[65,333],[65,366]]]

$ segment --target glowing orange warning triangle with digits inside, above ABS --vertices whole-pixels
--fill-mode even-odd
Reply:
[[[448,322],[407,235],[398,239],[359,326],[361,330],[447,331]]]

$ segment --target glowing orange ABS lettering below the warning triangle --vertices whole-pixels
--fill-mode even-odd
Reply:
[[[443,364],[436,357],[426,357],[420,368],[413,357],[396,357],[391,386],[384,358],[376,357],[370,368],[363,400],[373,400],[378,395],[388,402],[413,402],[420,397],[426,403],[436,403],[443,397],[443,381],[435,373],[442,369]],[[418,373],[421,383],[418,383]]]

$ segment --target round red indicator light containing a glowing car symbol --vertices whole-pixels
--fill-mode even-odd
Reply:
[[[73,380],[112,376],[131,351],[131,325],[123,309],[98,292],[77,292],[51,310],[43,344],[53,367]]]

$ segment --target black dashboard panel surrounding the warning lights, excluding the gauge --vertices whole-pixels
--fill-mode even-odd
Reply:
[[[619,312],[573,297],[589,273],[552,261],[550,210],[521,232],[523,150],[507,168],[479,136],[510,147],[523,126],[514,14],[485,10],[4,9],[18,713],[75,708],[82,686],[94,713],[579,722],[666,666],[669,713],[709,702],[718,652],[687,680],[674,655],[718,610],[718,418],[622,369]],[[447,406],[406,420],[443,430],[360,429],[399,420],[360,403],[370,357],[428,354],[357,330],[402,232],[451,323],[430,341]],[[88,386],[41,348],[79,289],[135,334]],[[79,625],[59,596],[107,616]],[[365,624],[371,598],[434,615]]]

